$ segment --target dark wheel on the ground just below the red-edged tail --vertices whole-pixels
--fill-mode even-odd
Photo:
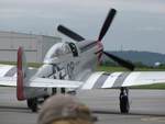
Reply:
[[[26,100],[29,109],[32,110],[32,112],[37,112],[37,99],[32,98]]]

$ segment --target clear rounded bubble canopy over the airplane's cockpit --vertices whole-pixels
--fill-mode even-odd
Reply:
[[[72,53],[68,44],[66,43],[57,43],[51,47],[51,49],[47,52],[45,59],[51,59],[55,57],[61,57],[63,55]]]

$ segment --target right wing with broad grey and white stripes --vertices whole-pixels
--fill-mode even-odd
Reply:
[[[95,72],[81,89],[121,88],[165,83],[165,71]]]

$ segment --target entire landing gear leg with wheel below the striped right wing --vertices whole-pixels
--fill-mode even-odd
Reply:
[[[129,113],[130,111],[130,103],[129,103],[129,89],[128,88],[121,88],[120,89],[120,112],[121,113]]]

